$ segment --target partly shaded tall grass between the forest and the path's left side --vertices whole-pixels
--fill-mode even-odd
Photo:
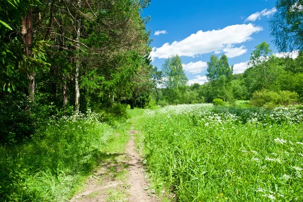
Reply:
[[[66,201],[102,155],[97,114],[52,119],[28,143],[0,146],[0,201]]]

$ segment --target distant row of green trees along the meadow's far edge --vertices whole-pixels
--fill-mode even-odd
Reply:
[[[179,61],[178,65],[174,61]],[[243,73],[233,74],[233,66],[225,55],[220,58],[212,55],[206,74],[208,81],[202,85],[186,85],[181,64],[178,56],[165,61],[162,88],[153,91],[153,99],[159,105],[211,103],[215,98],[233,103],[248,100],[258,91],[289,91],[297,94],[298,101],[303,98],[303,53],[295,59],[287,54],[277,57],[265,41],[252,51],[248,68]]]

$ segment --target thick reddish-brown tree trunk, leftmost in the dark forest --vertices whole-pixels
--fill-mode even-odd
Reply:
[[[21,39],[23,44],[23,54],[27,58],[33,57],[33,50],[32,50],[32,42],[33,42],[33,9],[32,7],[28,8],[27,14],[22,16],[21,19]],[[28,64],[25,64],[28,65]],[[27,67],[27,78],[28,78],[28,92],[29,97],[32,102],[35,101],[34,94],[35,94],[35,73],[31,70],[31,67]]]

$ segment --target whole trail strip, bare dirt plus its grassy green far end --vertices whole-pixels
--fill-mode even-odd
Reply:
[[[71,201],[158,201],[149,189],[135,144],[139,116],[118,127],[83,190]]]

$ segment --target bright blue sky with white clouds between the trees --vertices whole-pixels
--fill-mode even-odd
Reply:
[[[252,49],[262,41],[277,53],[268,24],[275,2],[151,0],[143,16],[150,16],[146,28],[153,38],[153,65],[161,69],[166,58],[178,54],[189,84],[203,84],[210,56],[226,54],[234,73],[243,72]]]

